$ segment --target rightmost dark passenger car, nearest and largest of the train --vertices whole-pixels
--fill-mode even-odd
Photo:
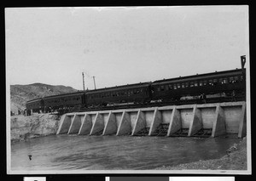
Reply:
[[[245,91],[245,77],[241,69],[183,76],[155,81],[151,84],[151,90],[151,99],[154,100],[179,100],[183,96],[198,96],[203,93],[231,95]]]

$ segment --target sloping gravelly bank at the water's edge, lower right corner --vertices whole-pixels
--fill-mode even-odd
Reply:
[[[156,170],[247,170],[247,139],[234,144],[226,151],[227,154],[219,159],[196,161],[180,164],[174,167],[158,167]]]

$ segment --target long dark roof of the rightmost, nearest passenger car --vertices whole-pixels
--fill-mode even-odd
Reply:
[[[232,76],[236,75],[237,73],[241,73],[241,69],[236,69],[236,70],[230,70],[230,71],[215,71],[212,73],[206,73],[206,74],[196,74],[193,76],[179,76],[175,78],[169,78],[169,79],[164,79],[164,80],[157,80],[152,83],[154,84],[160,84],[160,83],[166,83],[166,82],[185,82],[185,81],[195,81],[196,79],[207,79],[207,78],[214,78],[216,76]]]

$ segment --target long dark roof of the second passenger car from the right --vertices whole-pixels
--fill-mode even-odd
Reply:
[[[120,90],[120,89],[127,89],[127,88],[143,88],[148,86],[150,82],[140,82],[140,83],[134,83],[134,84],[127,84],[127,85],[121,85],[121,86],[115,86],[115,87],[110,87],[110,88],[98,88],[96,90],[90,90],[86,94],[90,93],[100,93],[102,91],[115,91],[115,90]]]

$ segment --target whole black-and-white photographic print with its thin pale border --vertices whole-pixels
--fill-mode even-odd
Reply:
[[[7,173],[251,174],[248,8],[5,8]]]

